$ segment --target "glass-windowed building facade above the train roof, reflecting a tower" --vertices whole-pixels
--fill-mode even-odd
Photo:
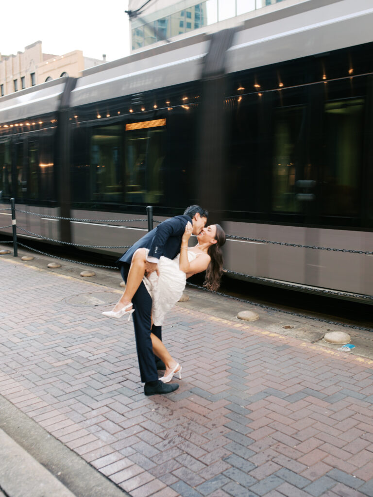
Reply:
[[[142,0],[129,0],[131,51],[144,49],[162,40],[186,36],[190,31],[220,23],[282,0],[153,0],[143,10]],[[287,2],[288,0],[283,0]]]

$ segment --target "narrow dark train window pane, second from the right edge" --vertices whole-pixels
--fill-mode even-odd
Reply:
[[[305,106],[275,110],[272,157],[272,209],[276,212],[298,212],[295,181],[313,179],[310,167],[302,158]]]

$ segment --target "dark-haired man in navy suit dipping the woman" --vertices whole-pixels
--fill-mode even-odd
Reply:
[[[124,281],[127,282],[132,256],[138,248],[149,248],[149,254],[145,263],[146,273],[158,272],[158,261],[161,255],[174,259],[180,252],[182,236],[187,222],[192,224],[193,235],[198,235],[206,224],[207,215],[207,211],[199,205],[190,205],[185,210],[183,216],[166,219],[166,221],[163,221],[154,230],[140,238],[118,260]],[[137,357],[139,360],[141,381],[145,383],[144,393],[145,395],[154,395],[173,392],[179,388],[177,383],[170,385],[158,380],[156,357],[153,354],[150,333],[154,333],[162,340],[162,327],[151,326],[152,299],[144,283],[140,284],[132,299],[132,303],[135,309],[135,313],[132,316],[135,328]]]

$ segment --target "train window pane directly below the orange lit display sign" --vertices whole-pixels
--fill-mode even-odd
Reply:
[[[126,131],[125,202],[160,203],[164,193],[165,156],[164,127]]]

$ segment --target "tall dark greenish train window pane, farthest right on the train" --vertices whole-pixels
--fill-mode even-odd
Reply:
[[[321,214],[359,214],[363,125],[363,99],[331,101],[325,104],[320,171]]]

